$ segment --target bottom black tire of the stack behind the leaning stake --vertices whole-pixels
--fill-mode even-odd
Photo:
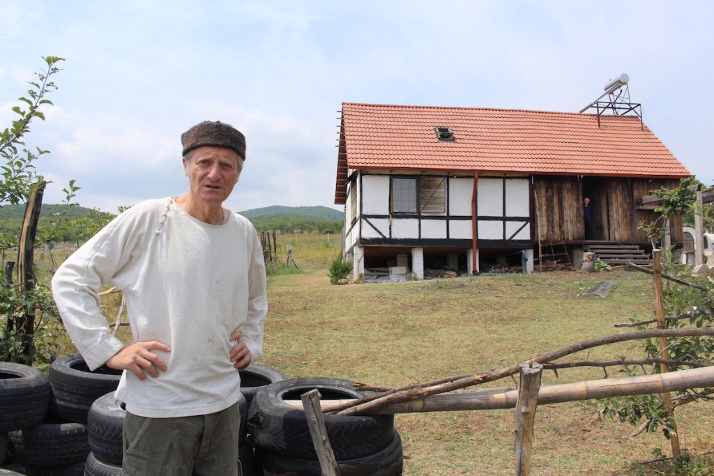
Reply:
[[[403,449],[401,438],[393,432],[393,438],[383,450],[353,460],[338,460],[342,476],[397,476],[402,474]],[[256,448],[256,465],[263,476],[321,476],[320,462],[276,455]]]

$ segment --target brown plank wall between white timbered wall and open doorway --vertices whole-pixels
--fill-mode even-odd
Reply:
[[[535,239],[573,241],[585,238],[583,198],[577,176],[534,176]]]

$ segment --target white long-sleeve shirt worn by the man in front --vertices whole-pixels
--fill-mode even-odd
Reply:
[[[99,310],[99,289],[126,298],[136,341],[158,340],[168,370],[146,380],[125,371],[116,397],[144,417],[218,412],[238,400],[240,375],[228,354],[241,332],[254,360],[263,353],[266,275],[252,224],[231,213],[211,225],[171,198],[141,202],[114,219],[56,271],[52,291],[64,326],[89,368],[123,347]]]

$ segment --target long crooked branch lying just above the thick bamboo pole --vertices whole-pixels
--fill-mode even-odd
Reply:
[[[540,355],[537,358],[528,360],[528,362],[538,362],[538,363],[548,363],[553,360],[565,357],[565,355],[570,355],[580,350],[586,350],[600,345],[614,344],[625,342],[627,340],[636,339],[648,339],[648,338],[659,338],[660,336],[665,337],[692,337],[701,335],[714,335],[714,328],[682,328],[682,329],[648,329],[648,330],[638,330],[631,333],[623,333],[616,335],[608,335],[605,337],[594,338],[590,340],[583,340],[583,342],[570,344],[564,348],[554,350],[552,352]],[[408,388],[407,390],[392,391],[388,393],[378,393],[376,395],[369,395],[368,397],[363,397],[353,402],[346,403],[342,407],[336,410],[340,410],[341,415],[363,415],[370,414],[377,410],[383,405],[388,405],[396,402],[404,402],[407,400],[413,400],[416,398],[426,397],[428,395],[436,395],[437,393],[450,392],[451,390],[458,390],[460,388],[471,387],[472,385],[480,385],[486,382],[493,382],[493,380],[499,380],[504,377],[509,377],[518,372],[518,364],[511,365],[506,368],[501,368],[498,370],[489,370],[488,372],[476,373],[473,375],[468,375],[466,377],[457,378],[456,380],[440,379],[441,381],[447,380],[446,383],[441,383],[438,385],[425,384],[423,386],[416,386]]]

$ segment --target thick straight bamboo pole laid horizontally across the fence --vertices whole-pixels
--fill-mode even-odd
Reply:
[[[650,393],[678,392],[688,388],[714,387],[714,365],[665,374],[638,377],[603,378],[583,382],[544,385],[538,391],[538,405],[623,397]],[[331,412],[351,400],[322,400],[323,412]],[[461,410],[506,410],[515,408],[518,390],[513,388],[480,388],[458,390],[392,403],[360,415],[394,415],[396,413],[456,412]],[[301,408],[301,402],[286,400],[286,405]]]

